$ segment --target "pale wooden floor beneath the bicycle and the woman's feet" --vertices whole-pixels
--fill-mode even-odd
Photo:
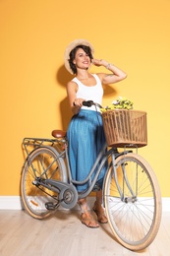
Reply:
[[[24,211],[0,211],[1,256],[169,256],[170,214],[164,213],[158,234],[142,252],[132,252],[112,237],[108,224],[88,228],[79,211],[58,211],[37,221]]]

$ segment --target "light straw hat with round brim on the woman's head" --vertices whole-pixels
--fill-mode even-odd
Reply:
[[[93,46],[91,45],[91,43],[85,39],[76,39],[74,41],[72,41],[66,48],[65,50],[65,54],[64,54],[64,62],[65,62],[65,67],[66,69],[71,73],[73,74],[73,71],[70,67],[70,64],[69,64],[69,59],[70,59],[70,52],[75,48],[77,47],[78,45],[85,45],[85,46],[89,46],[89,48],[91,49],[91,53],[93,54],[94,53],[94,48]]]

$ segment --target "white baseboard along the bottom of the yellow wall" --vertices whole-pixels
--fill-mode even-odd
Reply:
[[[88,197],[89,209],[92,208],[94,197]],[[20,196],[0,196],[0,210],[22,210],[22,201]],[[75,210],[78,208],[75,207]],[[162,198],[162,211],[170,212],[170,197]]]

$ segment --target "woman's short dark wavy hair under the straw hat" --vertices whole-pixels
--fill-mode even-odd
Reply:
[[[70,52],[70,59],[69,59],[69,64],[70,64],[70,67],[73,71],[74,74],[77,74],[77,67],[76,65],[73,63],[74,59],[75,59],[75,56],[76,56],[76,53],[77,53],[77,50],[79,48],[82,48],[85,53],[89,56],[89,59],[90,61],[93,59],[92,57],[92,53],[91,53],[91,49],[89,46],[86,46],[86,45],[78,45],[76,46],[71,52]]]

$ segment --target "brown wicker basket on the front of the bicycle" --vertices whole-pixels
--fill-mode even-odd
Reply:
[[[147,145],[146,112],[138,110],[107,110],[102,113],[108,146],[115,148]]]

